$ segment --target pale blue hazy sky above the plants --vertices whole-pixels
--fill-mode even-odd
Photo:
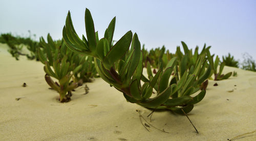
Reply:
[[[211,52],[230,52],[242,61],[256,59],[256,1],[0,1],[0,33],[28,35],[28,30],[60,39],[68,10],[77,34],[85,34],[84,11],[93,16],[99,37],[116,16],[114,39],[137,33],[148,49],[165,45],[170,52],[184,41],[189,48],[211,45]]]

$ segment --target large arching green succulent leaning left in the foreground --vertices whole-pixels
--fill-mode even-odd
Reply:
[[[205,90],[196,97],[190,96],[200,89],[200,84],[208,78],[211,71],[209,66],[201,76],[198,75],[203,64],[202,58],[197,60],[193,71],[188,71],[182,63],[182,73],[178,71],[176,58],[168,61],[165,69],[159,69],[154,76],[151,66],[147,65],[147,79],[142,75],[143,53],[136,33],[133,35],[129,31],[112,45],[115,17],[106,29],[104,38],[100,40],[88,9],[85,12],[85,23],[87,39],[82,36],[81,40],[74,30],[69,12],[63,27],[63,40],[71,50],[94,57],[95,68],[100,77],[122,92],[127,101],[147,108],[183,113],[193,109],[193,105],[204,97]],[[175,76],[169,81],[173,71]],[[145,81],[143,84],[142,79]],[[153,89],[157,92],[155,96],[152,96]]]

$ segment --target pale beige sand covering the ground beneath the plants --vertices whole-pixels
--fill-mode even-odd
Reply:
[[[150,124],[169,132],[164,133],[147,131],[136,110],[148,122],[151,110],[126,102],[100,78],[87,83],[89,94],[82,86],[72,101],[59,103],[45,82],[43,65],[26,57],[16,61],[7,48],[0,44],[0,140],[227,140],[256,129],[255,72],[225,67],[224,73],[238,76],[209,81],[205,98],[188,114],[199,134],[185,116],[154,112]],[[256,133],[236,140],[256,140]]]

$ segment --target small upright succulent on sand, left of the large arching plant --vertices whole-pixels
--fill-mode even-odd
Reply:
[[[71,81],[71,78],[82,66],[75,66],[75,64],[70,63],[68,55],[63,54],[65,44],[63,42],[54,42],[49,34],[48,43],[41,37],[40,44],[44,50],[38,50],[38,57],[45,64],[46,82],[59,93],[60,102],[70,101],[71,91],[78,87],[78,82]],[[57,79],[58,82],[54,82],[51,77]]]

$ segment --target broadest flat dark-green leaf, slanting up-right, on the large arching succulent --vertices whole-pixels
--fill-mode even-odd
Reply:
[[[102,62],[106,69],[109,70],[127,52],[132,41],[132,35],[131,31],[127,32],[106,54]]]

